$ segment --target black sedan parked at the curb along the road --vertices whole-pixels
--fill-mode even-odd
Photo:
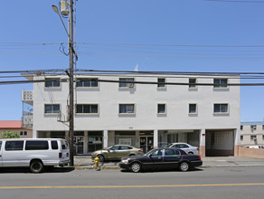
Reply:
[[[201,156],[187,155],[178,148],[156,148],[144,156],[128,156],[121,159],[119,166],[134,173],[148,169],[180,169],[188,171],[194,166],[202,166]]]

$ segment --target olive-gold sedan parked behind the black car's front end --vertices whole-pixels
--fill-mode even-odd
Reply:
[[[121,160],[125,156],[143,156],[144,152],[141,148],[132,147],[129,145],[115,145],[107,149],[97,150],[91,153],[91,158],[99,157],[100,162],[106,160]]]

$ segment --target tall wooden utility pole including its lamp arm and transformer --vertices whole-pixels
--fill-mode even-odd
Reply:
[[[67,10],[67,4],[70,5],[70,11],[68,12]],[[61,7],[63,8],[66,8],[66,11],[64,10],[63,13],[61,14],[65,14],[65,15],[68,15],[70,14],[69,16],[69,33],[67,31],[67,28],[65,26],[65,24],[63,23],[62,21],[62,18],[61,18],[61,14],[59,13],[59,9],[56,5],[52,5],[52,10],[58,14],[60,16],[60,19],[61,19],[61,23],[63,24],[64,26],[64,29],[68,35],[68,43],[69,43],[69,55],[70,55],[70,67],[69,67],[69,71],[70,72],[67,72],[67,74],[69,75],[69,95],[70,95],[70,109],[69,109],[69,122],[70,122],[70,125],[69,125],[69,134],[70,134],[70,160],[71,160],[71,163],[70,165],[71,166],[74,166],[74,160],[73,160],[73,136],[74,136],[74,121],[73,121],[73,53],[74,50],[73,50],[73,0],[70,0],[69,3],[67,0],[61,0]],[[64,7],[64,5],[66,5],[66,7]],[[77,57],[77,56],[76,56]]]

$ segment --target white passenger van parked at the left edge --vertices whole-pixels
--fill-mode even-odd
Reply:
[[[69,163],[70,149],[65,139],[0,139],[0,167],[29,166],[33,173],[40,173],[44,166],[66,166]]]

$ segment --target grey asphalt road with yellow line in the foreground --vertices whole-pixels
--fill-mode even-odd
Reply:
[[[0,198],[239,198],[262,199],[264,169],[203,167],[190,172],[134,174],[120,170],[61,170],[31,174],[1,170]]]

